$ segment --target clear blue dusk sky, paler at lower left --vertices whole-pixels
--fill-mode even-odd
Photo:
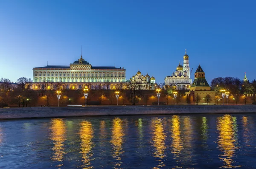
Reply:
[[[0,77],[32,78],[32,68],[69,65],[138,70],[164,83],[185,49],[191,77],[200,64],[216,77],[256,79],[253,0],[0,0]]]

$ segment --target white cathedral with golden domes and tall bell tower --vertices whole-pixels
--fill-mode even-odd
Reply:
[[[172,76],[166,76],[164,83],[167,86],[176,87],[177,90],[188,90],[190,88],[192,79],[190,79],[189,56],[186,51],[183,56],[183,66],[179,64]]]

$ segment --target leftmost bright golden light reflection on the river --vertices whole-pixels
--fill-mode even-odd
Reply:
[[[65,135],[66,135],[66,127],[65,123],[62,119],[60,118],[55,118],[52,119],[51,122],[51,139],[53,141],[53,152],[54,155],[52,156],[53,161],[59,161],[62,162],[64,158],[64,141],[65,141]],[[58,164],[57,166],[62,166],[63,163]]]

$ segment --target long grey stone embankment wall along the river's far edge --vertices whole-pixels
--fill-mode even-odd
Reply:
[[[255,105],[92,106],[1,108],[0,119],[117,115],[256,113]]]

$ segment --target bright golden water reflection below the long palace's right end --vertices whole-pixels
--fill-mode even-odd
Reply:
[[[122,158],[121,155],[123,151],[123,141],[124,141],[124,130],[123,121],[120,118],[113,119],[113,129],[112,129],[112,140],[110,141],[113,145],[113,158],[116,160],[114,163],[115,168],[121,166]]]

